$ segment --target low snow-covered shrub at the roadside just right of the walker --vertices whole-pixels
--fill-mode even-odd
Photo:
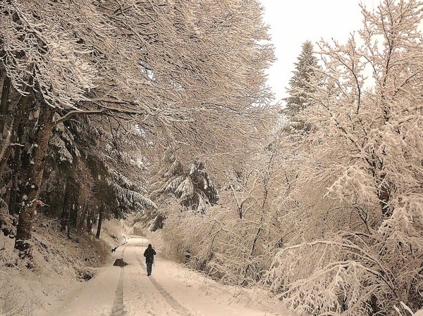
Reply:
[[[221,206],[208,208],[204,215],[171,213],[161,234],[166,251],[225,284],[257,284],[273,253],[265,241],[255,244],[259,222],[237,216]],[[260,239],[268,237],[262,234]]]

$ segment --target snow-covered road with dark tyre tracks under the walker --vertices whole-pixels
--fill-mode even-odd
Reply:
[[[127,265],[104,267],[89,282],[69,289],[61,301],[50,302],[37,316],[270,316],[269,303],[257,303],[253,292],[228,288],[178,263],[155,258],[152,276],[147,277],[144,250],[148,240],[128,239],[117,248],[115,259]],[[257,294],[256,297],[257,298]],[[280,308],[280,305],[278,306]]]

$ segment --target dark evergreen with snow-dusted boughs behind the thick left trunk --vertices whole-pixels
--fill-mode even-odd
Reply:
[[[133,125],[85,117],[56,126],[61,126],[59,134],[67,136],[55,133],[51,138],[59,138],[50,144],[59,150],[52,151],[54,159],[49,159],[48,169],[54,171],[44,177],[42,201],[45,197],[49,206],[59,204],[62,229],[81,228],[86,213],[109,219],[156,208],[146,197],[148,170],[141,154],[145,140]]]

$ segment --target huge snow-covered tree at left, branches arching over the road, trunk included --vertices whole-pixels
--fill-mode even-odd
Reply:
[[[264,87],[273,53],[257,1],[7,0],[0,11],[4,87],[23,96],[7,107],[13,116],[25,100],[35,101],[42,123],[20,213],[16,248],[23,256],[30,255],[55,124],[113,115],[133,120],[157,143],[201,156],[228,153],[273,117]],[[15,128],[9,121],[8,134]],[[3,141],[0,152],[10,144]]]

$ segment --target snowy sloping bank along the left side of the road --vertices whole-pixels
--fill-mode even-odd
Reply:
[[[0,236],[0,315],[30,316],[60,301],[111,261],[111,248],[125,243],[118,220],[104,221],[101,240],[60,232],[58,220],[37,215],[33,229],[33,268],[13,251],[14,239]]]

